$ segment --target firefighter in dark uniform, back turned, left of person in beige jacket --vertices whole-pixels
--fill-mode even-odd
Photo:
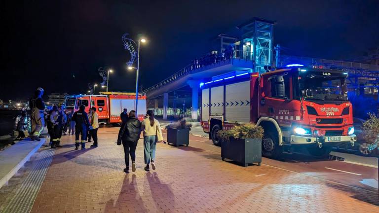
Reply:
[[[84,105],[80,105],[79,110],[74,113],[73,121],[75,121],[75,150],[79,149],[80,142],[81,149],[85,149],[89,120]],[[79,141],[79,135],[81,135],[81,141]]]

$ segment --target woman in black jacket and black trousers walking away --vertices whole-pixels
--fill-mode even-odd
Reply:
[[[136,111],[131,110],[126,122],[122,122],[120,131],[118,132],[117,145],[124,146],[125,152],[125,173],[129,173],[129,153],[132,159],[132,171],[136,171],[136,147],[137,142],[140,139],[141,134],[141,122],[136,119]]]

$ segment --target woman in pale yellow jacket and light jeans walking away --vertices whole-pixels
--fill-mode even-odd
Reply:
[[[150,171],[149,164],[152,164],[152,169],[155,170],[155,148],[156,141],[163,141],[162,129],[157,119],[154,118],[154,112],[148,111],[148,118],[142,121],[141,129],[144,133],[144,157],[145,170]]]

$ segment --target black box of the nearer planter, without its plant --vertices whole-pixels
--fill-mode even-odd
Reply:
[[[230,142],[223,141],[221,146],[221,158],[236,161],[242,166],[262,162],[262,140],[261,139],[230,139]]]

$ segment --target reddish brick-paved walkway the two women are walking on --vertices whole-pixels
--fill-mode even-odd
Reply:
[[[378,194],[277,169],[224,162],[195,147],[157,144],[157,169],[122,172],[118,128],[99,130],[99,147],[74,148],[65,136],[38,192],[32,213],[377,213]],[[89,144],[87,144],[89,147]]]

